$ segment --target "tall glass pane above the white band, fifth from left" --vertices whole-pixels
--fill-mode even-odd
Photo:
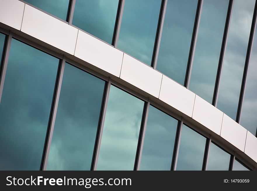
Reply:
[[[212,103],[229,0],[204,0],[190,90]],[[210,22],[211,21],[211,22]]]

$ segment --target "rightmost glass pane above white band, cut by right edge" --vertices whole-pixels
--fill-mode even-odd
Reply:
[[[257,127],[257,35],[255,34],[249,61],[240,124],[253,135]]]

